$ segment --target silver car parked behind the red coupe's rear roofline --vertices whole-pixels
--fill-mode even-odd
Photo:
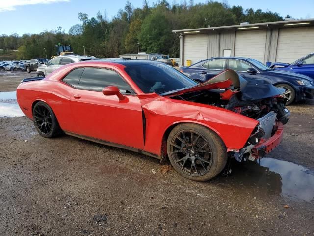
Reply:
[[[94,56],[87,56],[87,55],[60,55],[58,57],[55,57],[51,59],[48,62],[45,62],[45,64],[40,65],[37,68],[37,76],[47,76],[56,69],[60,68],[63,65],[67,65],[74,62],[84,61],[84,60],[95,60],[98,58],[95,58]]]

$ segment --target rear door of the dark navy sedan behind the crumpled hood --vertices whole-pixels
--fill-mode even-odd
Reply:
[[[212,59],[198,67],[198,75],[201,81],[207,81],[226,69],[226,59]]]

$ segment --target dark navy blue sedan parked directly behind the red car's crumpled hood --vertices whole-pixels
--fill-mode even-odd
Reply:
[[[304,99],[314,98],[314,79],[293,72],[275,71],[261,62],[250,58],[220,57],[199,61],[180,71],[198,82],[205,82],[220,72],[232,69],[243,78],[266,80],[276,87],[285,89],[283,95],[287,105]]]

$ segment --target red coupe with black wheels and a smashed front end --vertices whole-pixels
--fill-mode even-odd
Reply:
[[[38,133],[64,132],[159,159],[183,177],[218,175],[227,160],[255,160],[281,141],[289,111],[278,89],[227,70],[198,84],[160,62],[72,63],[24,79],[17,100]]]

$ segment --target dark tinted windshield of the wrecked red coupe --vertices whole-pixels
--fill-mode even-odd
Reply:
[[[198,85],[194,80],[165,64],[128,66],[124,70],[144,93],[160,94]]]

